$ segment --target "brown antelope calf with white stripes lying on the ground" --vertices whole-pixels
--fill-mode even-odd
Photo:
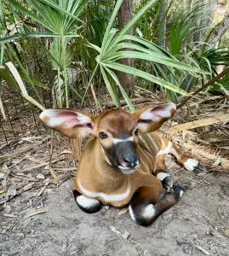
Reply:
[[[136,113],[110,109],[93,117],[73,109],[47,109],[40,114],[44,124],[66,137],[93,136],[83,149],[74,195],[84,212],[97,212],[102,205],[129,204],[131,218],[151,224],[159,214],[175,205],[184,189],[173,185],[163,154],[174,154],[189,171],[203,166],[182,155],[157,131],[175,113],[175,104],[147,107]]]

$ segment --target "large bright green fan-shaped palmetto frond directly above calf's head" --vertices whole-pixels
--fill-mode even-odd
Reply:
[[[154,84],[159,84],[160,86],[168,90],[172,90],[180,95],[187,95],[185,90],[181,90],[175,84],[170,84],[164,79],[158,78],[157,76],[146,73],[145,71],[135,67],[125,66],[119,63],[119,60],[123,58],[133,58],[157,62],[169,67],[179,68],[180,70],[187,71],[194,75],[197,75],[197,73],[204,73],[196,67],[192,67],[176,60],[175,57],[169,55],[169,53],[158,47],[156,44],[152,44],[151,42],[148,42],[142,38],[128,34],[129,28],[135,25],[135,23],[140,19],[141,15],[143,15],[147,9],[150,9],[153,4],[157,3],[156,0],[152,0],[146,3],[146,5],[140,9],[140,11],[131,20],[129,20],[128,24],[126,24],[126,26],[124,26],[120,32],[118,32],[116,28],[113,28],[112,25],[116,18],[117,11],[122,3],[123,0],[117,0],[111,20],[106,27],[102,45],[100,49],[96,47],[96,49],[99,51],[99,55],[96,57],[96,61],[100,66],[103,79],[105,80],[106,87],[112,96],[113,102],[115,102],[118,107],[119,103],[117,92],[114,91],[111,79],[115,84],[117,84],[119,90],[121,90],[123,98],[128,103],[130,110],[134,111],[134,107],[131,104],[129,97],[125,94],[122,84],[119,84],[117,75],[114,73],[114,71],[129,73],[142,79],[149,80]]]

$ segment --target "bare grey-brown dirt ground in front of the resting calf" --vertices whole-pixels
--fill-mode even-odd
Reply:
[[[0,206],[0,255],[229,255],[228,172],[196,175],[169,158],[167,166],[189,188],[151,226],[141,227],[129,212],[118,215],[112,207],[82,212],[68,178],[46,188],[36,204],[31,189]],[[37,211],[43,213],[30,216]],[[126,231],[128,239],[121,236]]]

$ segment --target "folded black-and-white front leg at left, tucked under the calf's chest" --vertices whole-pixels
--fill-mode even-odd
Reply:
[[[94,213],[100,211],[102,203],[99,200],[82,195],[76,189],[73,190],[73,195],[77,206],[80,207],[83,212]]]

